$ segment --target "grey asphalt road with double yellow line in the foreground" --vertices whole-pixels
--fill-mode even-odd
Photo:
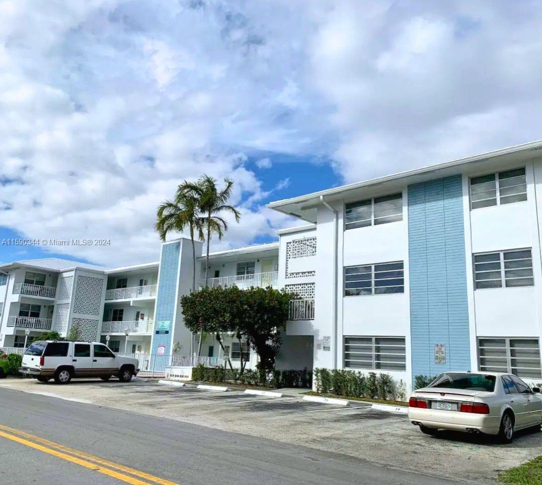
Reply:
[[[4,387],[0,389],[0,483],[33,482],[464,483],[269,439]]]

